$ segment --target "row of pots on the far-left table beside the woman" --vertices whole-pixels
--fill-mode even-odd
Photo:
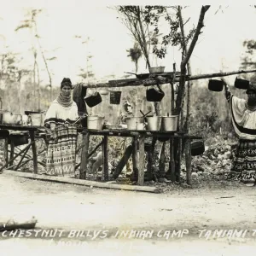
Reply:
[[[25,111],[25,114],[0,110],[0,124],[3,125],[44,125],[44,113]]]

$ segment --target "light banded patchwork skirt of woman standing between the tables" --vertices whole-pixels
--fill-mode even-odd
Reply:
[[[46,174],[53,176],[75,176],[77,129],[60,125],[56,128],[57,141],[49,140],[46,156]]]

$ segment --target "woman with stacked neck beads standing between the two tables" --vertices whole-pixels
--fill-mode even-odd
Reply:
[[[78,132],[73,123],[79,118],[78,107],[71,98],[72,83],[64,78],[60,95],[51,103],[44,125],[50,129],[46,157],[46,173],[54,176],[75,176]]]

